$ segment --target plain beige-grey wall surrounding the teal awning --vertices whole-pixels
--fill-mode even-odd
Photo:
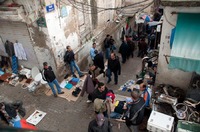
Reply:
[[[171,29],[176,26],[178,14],[171,14],[171,12],[185,12],[195,13],[200,12],[200,7],[164,7],[164,19],[162,26],[159,60],[158,60],[158,74],[156,83],[171,84],[183,89],[187,89],[191,80],[192,73],[181,70],[169,70],[168,64],[163,55],[170,55],[170,35]],[[184,36],[183,36],[184,37]],[[169,60],[169,58],[168,58]]]

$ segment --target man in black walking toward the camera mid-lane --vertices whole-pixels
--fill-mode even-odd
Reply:
[[[108,59],[108,81],[107,83],[111,82],[111,75],[114,74],[115,85],[118,83],[118,75],[121,74],[121,65],[119,62],[119,58],[116,56],[115,53],[111,53],[110,59]]]

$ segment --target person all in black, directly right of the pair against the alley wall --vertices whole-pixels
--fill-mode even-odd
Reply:
[[[126,44],[126,42],[124,41],[124,39],[122,39],[121,41],[122,41],[122,44],[119,47],[119,53],[122,56],[122,63],[125,63],[129,49],[128,49],[128,45]]]

